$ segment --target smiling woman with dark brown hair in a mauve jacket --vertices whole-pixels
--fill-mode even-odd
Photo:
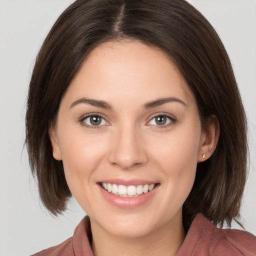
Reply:
[[[73,195],[88,214],[36,255],[256,253],[253,235],[214,226],[239,216],[246,117],[219,37],[186,1],[71,4],[37,56],[26,143],[46,208]]]

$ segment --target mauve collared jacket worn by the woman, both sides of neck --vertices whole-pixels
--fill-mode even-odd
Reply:
[[[85,216],[72,237],[33,256],[93,256],[91,230]],[[215,227],[202,214],[193,219],[185,240],[175,256],[256,256],[256,237],[236,229]],[[164,255],[163,255],[164,256]]]

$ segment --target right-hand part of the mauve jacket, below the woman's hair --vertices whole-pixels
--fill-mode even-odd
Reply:
[[[199,213],[176,253],[181,255],[256,256],[256,237],[246,231],[217,228]]]

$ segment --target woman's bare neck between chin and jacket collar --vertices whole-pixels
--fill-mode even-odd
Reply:
[[[91,221],[91,230],[93,237],[91,246],[95,256],[173,256],[185,238],[182,216],[140,237],[120,237],[110,234],[93,221]]]

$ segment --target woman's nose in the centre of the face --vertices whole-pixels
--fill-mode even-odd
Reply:
[[[143,136],[135,128],[120,129],[111,137],[109,162],[121,169],[143,165],[148,157],[143,143]]]

